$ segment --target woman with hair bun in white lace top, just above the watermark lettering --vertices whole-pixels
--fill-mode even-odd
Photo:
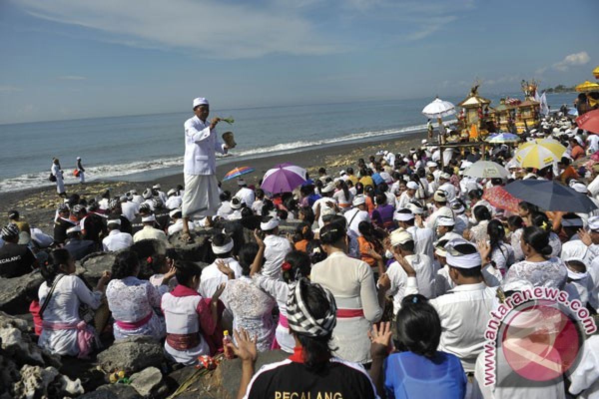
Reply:
[[[564,288],[567,269],[564,262],[551,257],[549,233],[537,226],[524,227],[521,240],[524,260],[514,263],[503,279],[504,291],[531,287]]]

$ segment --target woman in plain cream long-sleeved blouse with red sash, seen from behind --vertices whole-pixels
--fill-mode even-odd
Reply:
[[[370,363],[368,331],[383,315],[385,292],[377,293],[370,266],[347,256],[348,237],[343,223],[320,229],[320,243],[328,257],[312,267],[311,280],[327,288],[337,301],[337,327],[332,345],[335,356],[354,363]]]

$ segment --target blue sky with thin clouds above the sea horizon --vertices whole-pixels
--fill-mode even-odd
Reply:
[[[0,0],[0,124],[594,81],[597,0]]]

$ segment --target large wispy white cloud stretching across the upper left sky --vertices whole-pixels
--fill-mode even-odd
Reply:
[[[319,37],[297,7],[258,7],[195,0],[19,0],[30,14],[101,32],[100,39],[146,48],[175,48],[203,57],[243,58],[343,51]]]

